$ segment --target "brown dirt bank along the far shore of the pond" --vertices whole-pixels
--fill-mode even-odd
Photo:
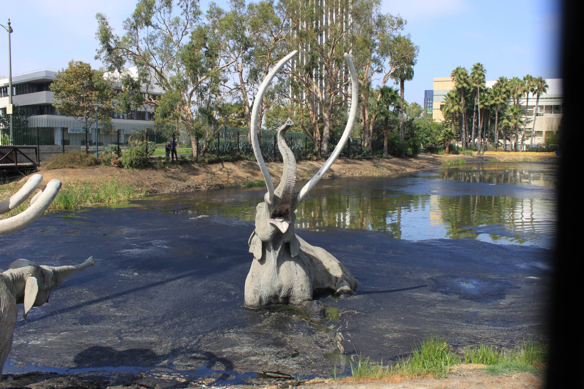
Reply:
[[[324,178],[397,176],[442,166],[445,161],[461,158],[467,162],[478,161],[558,161],[554,153],[544,152],[486,152],[484,156],[420,154],[417,158],[401,159],[338,159]],[[324,164],[321,161],[298,162],[298,180],[308,180]],[[280,180],[281,162],[271,162],[267,168],[274,183]],[[262,179],[258,165],[252,161],[224,162],[199,166],[197,164],[173,165],[171,168],[148,168],[127,170],[106,166],[95,168],[62,168],[48,170],[43,166],[39,172],[45,182],[50,179],[68,181],[102,180],[115,177],[128,183],[135,190],[145,189],[149,194],[183,192],[186,190],[220,189],[239,187],[245,183]]]

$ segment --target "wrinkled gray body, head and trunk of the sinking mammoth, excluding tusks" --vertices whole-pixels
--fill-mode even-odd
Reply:
[[[256,207],[255,230],[249,237],[249,252],[253,262],[245,280],[247,308],[272,304],[302,305],[303,310],[315,311],[312,317],[322,316],[317,307],[303,304],[314,293],[331,292],[350,296],[357,289],[353,275],[331,253],[315,247],[294,232],[297,202],[296,159],[288,148],[284,134],[291,121],[278,130],[278,148],[284,160],[280,184],[270,201]],[[315,301],[314,303],[322,304]],[[310,313],[310,312],[307,312]]]

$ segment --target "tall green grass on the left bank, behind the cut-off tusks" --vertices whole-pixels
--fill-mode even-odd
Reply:
[[[4,200],[12,196],[24,183],[25,180],[18,183],[0,185],[0,199]],[[74,210],[92,204],[123,203],[145,194],[145,190],[142,190],[141,193],[135,192],[132,187],[126,183],[119,182],[116,178],[100,181],[65,182],[53,203],[48,207],[48,211]],[[0,215],[0,218],[14,216],[28,207],[29,201],[27,200],[12,211]]]

